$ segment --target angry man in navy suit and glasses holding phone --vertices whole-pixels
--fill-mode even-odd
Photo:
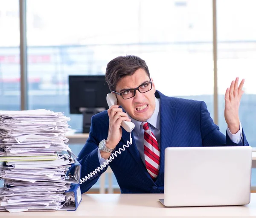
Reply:
[[[213,123],[204,102],[157,91],[148,66],[139,57],[111,60],[106,81],[118,105],[92,117],[89,138],[78,156],[82,178],[127,144],[130,133],[121,127],[122,121],[135,124],[133,143],[109,163],[122,193],[163,193],[166,147],[248,145],[239,121],[244,79],[239,87],[238,78],[232,81],[225,94],[226,136]],[[107,167],[84,181],[81,192],[89,190]]]

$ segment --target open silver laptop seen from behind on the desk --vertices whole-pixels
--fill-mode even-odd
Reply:
[[[250,203],[252,147],[167,147],[166,207]]]

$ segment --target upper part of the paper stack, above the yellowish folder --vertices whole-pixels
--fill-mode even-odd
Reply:
[[[63,113],[44,109],[0,111],[0,156],[54,155],[67,150],[68,120]]]

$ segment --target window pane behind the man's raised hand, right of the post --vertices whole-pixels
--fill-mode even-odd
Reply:
[[[223,133],[224,94],[232,80],[245,79],[239,117],[250,146],[256,145],[256,14],[254,0],[219,0],[218,23],[218,114]],[[252,186],[256,186],[256,169],[252,169]]]

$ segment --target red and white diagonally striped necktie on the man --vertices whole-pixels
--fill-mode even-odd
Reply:
[[[145,164],[152,179],[157,178],[160,167],[160,149],[158,147],[157,139],[151,132],[148,122],[142,122],[144,132],[144,155]]]

